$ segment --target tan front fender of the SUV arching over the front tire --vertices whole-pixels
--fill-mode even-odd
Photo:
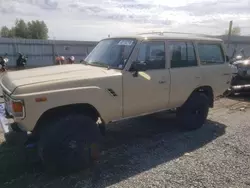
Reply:
[[[29,93],[13,97],[24,99],[26,117],[20,123],[27,130],[32,130],[44,112],[70,104],[91,104],[105,122],[119,119],[122,117],[122,92],[120,90],[115,92],[116,96],[112,95],[106,88],[88,86]],[[46,98],[47,100],[36,102],[37,98]]]

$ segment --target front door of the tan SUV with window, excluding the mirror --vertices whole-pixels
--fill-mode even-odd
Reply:
[[[170,74],[166,68],[164,41],[143,41],[134,60],[147,64],[137,77],[123,73],[123,116],[137,116],[166,109],[169,101]],[[131,63],[131,62],[130,62]]]

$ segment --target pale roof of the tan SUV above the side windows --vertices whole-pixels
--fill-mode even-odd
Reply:
[[[180,39],[180,40],[206,40],[206,41],[219,41],[223,40],[220,38],[216,38],[216,36],[209,36],[203,34],[193,34],[193,33],[172,33],[172,32],[155,32],[155,33],[142,33],[132,36],[117,36],[110,38],[136,38],[138,40],[142,39]]]

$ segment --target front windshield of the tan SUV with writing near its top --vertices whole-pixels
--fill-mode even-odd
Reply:
[[[84,61],[89,65],[123,69],[135,44],[135,39],[105,39]]]

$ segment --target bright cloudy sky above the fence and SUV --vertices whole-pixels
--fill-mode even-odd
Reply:
[[[99,40],[108,34],[180,31],[222,34],[230,20],[250,34],[250,0],[0,0],[0,26],[44,20],[50,38]]]

